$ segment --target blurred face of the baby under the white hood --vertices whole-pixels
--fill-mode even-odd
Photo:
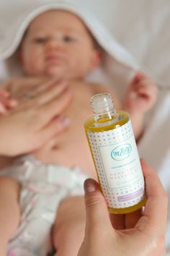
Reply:
[[[83,78],[99,64],[99,52],[84,23],[62,10],[50,10],[31,22],[20,56],[26,74],[60,79]]]

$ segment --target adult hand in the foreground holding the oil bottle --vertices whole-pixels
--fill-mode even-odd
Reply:
[[[142,216],[131,229],[112,227],[99,185],[92,179],[86,180],[86,231],[78,256],[166,255],[168,197],[156,172],[145,161],[142,160],[141,164],[146,179],[147,202]]]

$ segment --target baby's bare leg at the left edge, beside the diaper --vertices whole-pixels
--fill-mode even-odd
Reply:
[[[7,177],[0,178],[0,255],[6,255],[9,239],[19,223],[19,184]]]

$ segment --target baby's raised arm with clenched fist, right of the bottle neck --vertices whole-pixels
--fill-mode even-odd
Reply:
[[[122,109],[130,114],[135,138],[143,132],[144,116],[156,102],[158,90],[151,77],[138,72],[130,83]]]

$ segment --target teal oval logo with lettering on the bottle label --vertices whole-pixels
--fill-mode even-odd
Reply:
[[[111,152],[111,156],[116,161],[122,161],[129,157],[131,151],[132,147],[130,144],[123,144],[114,148]]]

